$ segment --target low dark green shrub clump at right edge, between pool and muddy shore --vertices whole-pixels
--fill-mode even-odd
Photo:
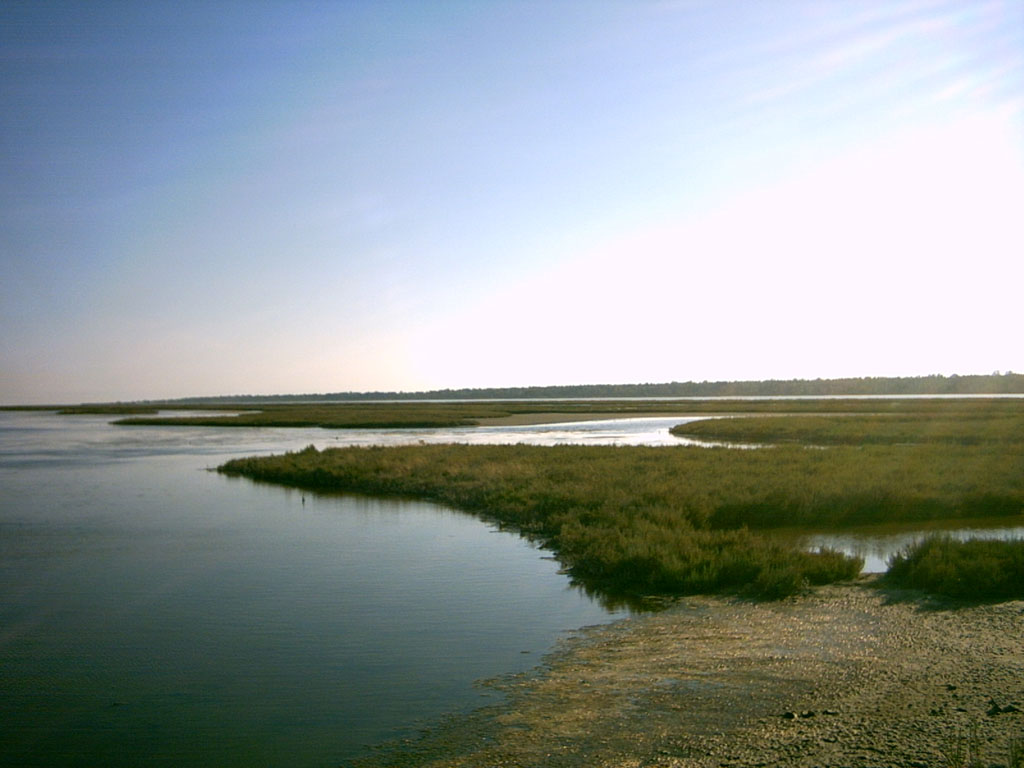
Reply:
[[[1024,540],[930,537],[892,558],[886,582],[961,599],[1021,599]]]

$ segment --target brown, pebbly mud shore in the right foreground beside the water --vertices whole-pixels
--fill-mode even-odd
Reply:
[[[968,742],[1008,765],[1024,739],[1024,601],[949,606],[869,583],[688,598],[488,685],[507,701],[366,765],[920,768]]]

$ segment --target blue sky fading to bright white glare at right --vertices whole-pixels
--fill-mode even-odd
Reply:
[[[0,403],[1024,370],[1019,0],[0,3]]]

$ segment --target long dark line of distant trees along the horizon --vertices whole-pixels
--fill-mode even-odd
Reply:
[[[673,381],[667,384],[582,384],[486,389],[435,389],[424,392],[332,392],[318,394],[187,397],[174,402],[260,402],[318,400],[472,400],[581,397],[762,397],[833,395],[1024,394],[1024,374],[987,376],[869,377],[767,381]]]

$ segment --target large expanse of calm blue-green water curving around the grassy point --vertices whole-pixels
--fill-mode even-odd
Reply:
[[[467,430],[106,421],[0,413],[0,764],[338,765],[486,703],[473,681],[528,669],[564,632],[622,615],[474,517],[205,471],[309,443]],[[650,429],[585,427],[612,442]]]

